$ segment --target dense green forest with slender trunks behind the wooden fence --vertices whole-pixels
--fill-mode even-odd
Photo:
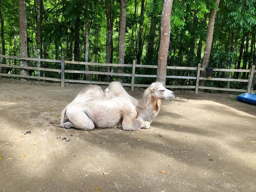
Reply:
[[[130,64],[136,60],[137,64],[157,65],[162,9],[163,0],[0,0],[0,54],[22,55],[19,37],[26,25],[27,53],[23,56],[58,60],[63,55],[70,61]],[[202,62],[211,12],[216,9],[211,51],[205,66],[250,69],[256,64],[256,0],[173,0],[171,9],[167,66],[197,67]],[[26,17],[26,23],[25,19],[20,20],[19,12]],[[125,20],[122,19],[124,12]],[[120,35],[124,35],[125,41],[120,41]],[[120,61],[120,46],[125,50],[123,61]],[[1,62],[19,64],[5,58]],[[58,64],[29,61],[29,66],[38,65],[60,69]],[[65,68],[119,71],[117,67],[89,68],[75,64],[66,64]],[[20,73],[17,69],[3,70]],[[129,67],[122,70],[119,72],[131,72]],[[29,73],[60,77],[47,71]],[[157,70],[140,68],[136,73],[156,75]],[[194,73],[196,71],[167,70],[167,75],[172,76],[195,76]],[[249,73],[215,72],[213,76],[248,79]],[[67,74],[67,78],[116,80],[115,76],[72,73]],[[129,78],[123,77],[122,81],[131,82]],[[154,81],[155,78],[135,79],[135,83],[141,84]],[[195,81],[166,79],[166,84],[195,85]],[[225,81],[207,81],[207,86],[245,88],[245,84]]]

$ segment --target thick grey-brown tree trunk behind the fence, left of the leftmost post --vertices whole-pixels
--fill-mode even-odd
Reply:
[[[26,20],[26,0],[18,0],[19,6],[19,29],[20,29],[20,57],[27,57],[27,20]],[[20,60],[20,66],[28,66],[26,60]],[[20,70],[21,75],[29,75],[28,70]],[[26,79],[21,78],[21,81]]]

